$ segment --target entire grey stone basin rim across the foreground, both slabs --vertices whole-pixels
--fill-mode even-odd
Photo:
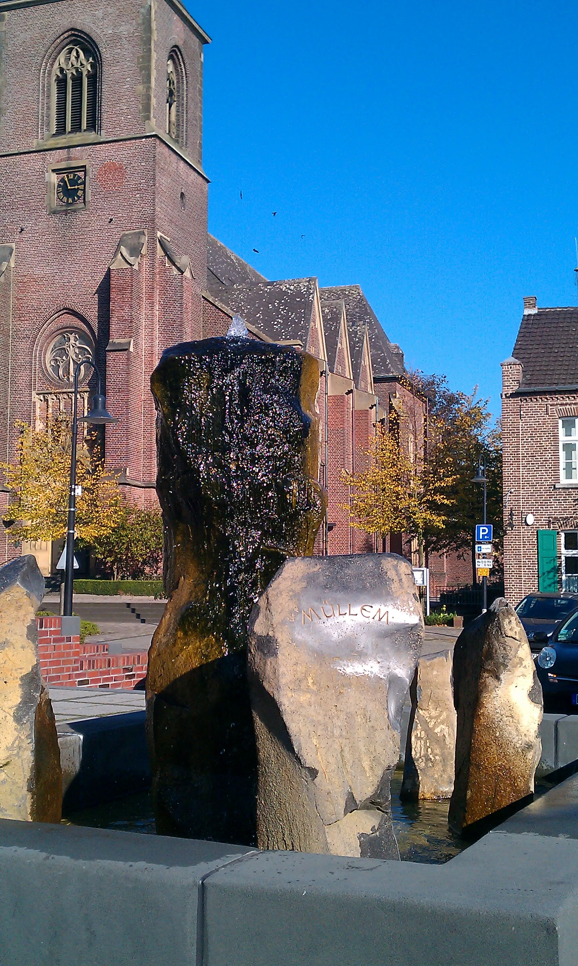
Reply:
[[[578,777],[445,866],[0,821],[3,966],[575,966]]]

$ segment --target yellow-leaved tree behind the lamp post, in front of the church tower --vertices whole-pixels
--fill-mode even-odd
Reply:
[[[54,417],[34,430],[17,423],[14,463],[0,463],[11,501],[2,514],[11,540],[58,540],[66,536],[71,473],[71,422]],[[78,440],[76,457],[76,536],[90,544],[120,522],[123,497],[116,479],[104,469],[98,448]]]

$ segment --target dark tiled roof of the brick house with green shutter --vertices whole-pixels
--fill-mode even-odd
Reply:
[[[519,389],[575,389],[578,308],[536,308],[525,312],[512,355],[523,366]]]

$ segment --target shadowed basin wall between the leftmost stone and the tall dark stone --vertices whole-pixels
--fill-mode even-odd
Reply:
[[[66,813],[148,788],[146,713],[57,725]]]

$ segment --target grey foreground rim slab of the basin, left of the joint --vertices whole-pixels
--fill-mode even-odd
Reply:
[[[247,851],[0,820],[2,966],[192,966],[203,878]]]

